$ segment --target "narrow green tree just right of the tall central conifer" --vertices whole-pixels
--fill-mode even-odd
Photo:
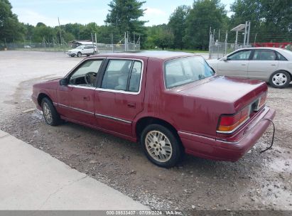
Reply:
[[[173,32],[173,48],[180,48],[182,50],[185,47],[183,43],[183,36],[185,36],[185,21],[190,12],[190,6],[178,6],[169,18],[168,26],[170,26]]]

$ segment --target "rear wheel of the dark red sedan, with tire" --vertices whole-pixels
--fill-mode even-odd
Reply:
[[[160,124],[146,126],[141,144],[148,160],[164,168],[175,166],[183,154],[178,137]]]

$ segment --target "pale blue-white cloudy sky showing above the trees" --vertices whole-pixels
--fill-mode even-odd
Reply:
[[[47,26],[58,26],[66,23],[91,23],[104,25],[109,13],[110,0],[9,0],[13,13],[18,21],[36,26],[42,22]],[[229,4],[234,0],[221,0],[229,11]],[[168,18],[180,5],[193,4],[193,0],[146,0],[143,8],[146,9],[141,20],[148,21],[146,26],[168,23]],[[228,13],[227,13],[228,14]]]

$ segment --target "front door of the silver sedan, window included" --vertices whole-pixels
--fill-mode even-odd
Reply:
[[[239,50],[227,56],[227,60],[220,60],[218,63],[218,75],[247,78],[249,57],[252,50]]]

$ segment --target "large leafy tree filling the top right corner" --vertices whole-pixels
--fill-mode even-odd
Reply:
[[[234,12],[230,20],[233,27],[251,21],[252,33],[258,33],[257,41],[291,40],[288,33],[292,20],[291,0],[237,0],[230,9]]]

